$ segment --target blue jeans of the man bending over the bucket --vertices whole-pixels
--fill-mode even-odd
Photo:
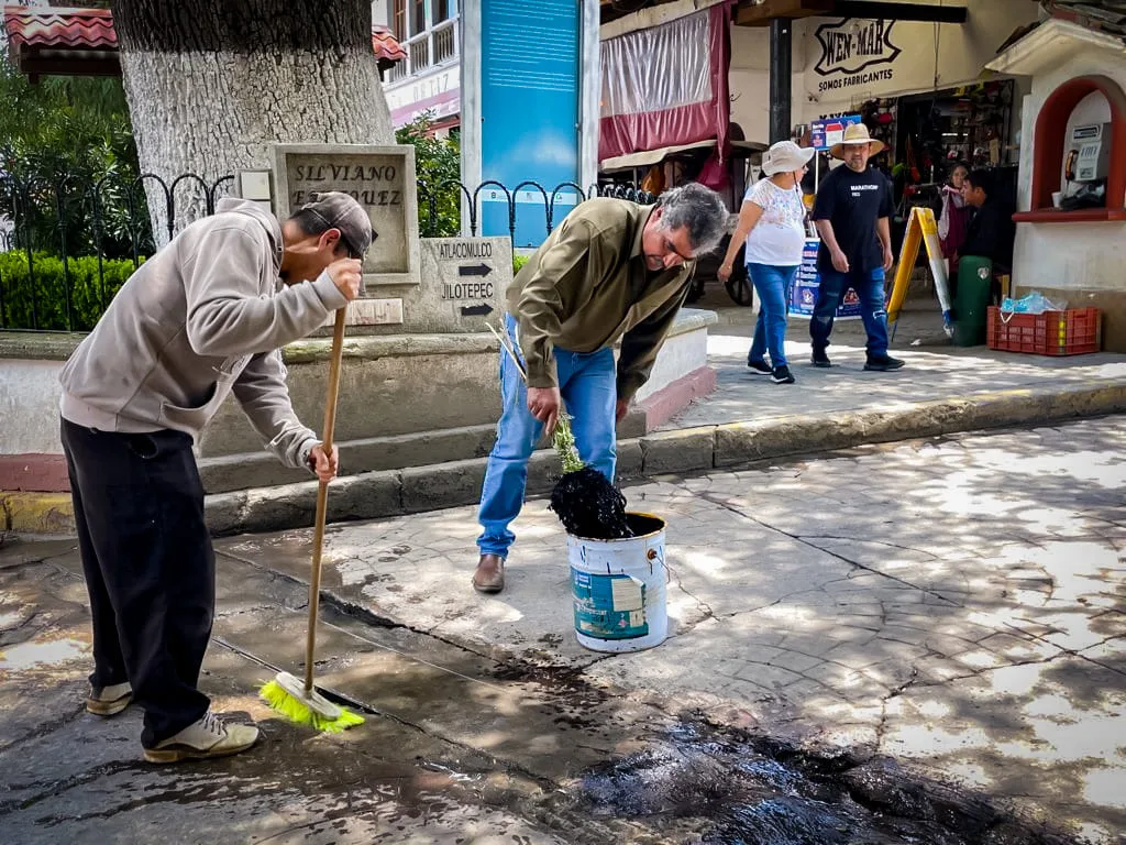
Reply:
[[[508,336],[519,350],[516,320],[511,314],[507,315],[506,324]],[[613,481],[617,460],[614,416],[618,399],[614,350],[607,347],[583,354],[556,347],[554,354],[560,393],[572,417],[579,456]],[[503,410],[481,490],[477,522],[482,532],[477,546],[482,554],[504,558],[516,540],[508,526],[524,505],[528,459],[543,434],[544,424],[528,410],[528,389],[503,349],[500,352],[500,392]]]

